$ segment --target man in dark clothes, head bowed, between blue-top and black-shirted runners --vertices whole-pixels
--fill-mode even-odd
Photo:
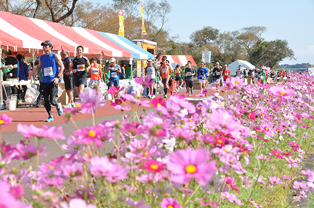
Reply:
[[[65,87],[65,92],[67,92],[69,96],[69,102],[63,106],[63,108],[75,108],[75,103],[74,103],[74,78],[73,78],[73,72],[70,69],[73,69],[73,62],[71,57],[68,55],[67,51],[62,50],[61,53],[61,58],[63,60],[63,66],[64,66],[64,71],[63,71],[63,80],[64,80],[64,87]]]

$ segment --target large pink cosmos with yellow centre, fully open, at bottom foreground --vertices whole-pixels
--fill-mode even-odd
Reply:
[[[191,178],[201,185],[211,180],[211,175],[216,171],[214,161],[207,162],[208,153],[205,149],[177,150],[170,155],[167,163],[168,169],[174,174],[171,180],[180,184],[188,182]]]

